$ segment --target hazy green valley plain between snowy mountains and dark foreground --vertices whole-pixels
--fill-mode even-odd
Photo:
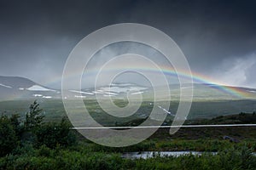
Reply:
[[[79,106],[76,105],[76,100],[73,100],[73,110],[83,111]],[[32,103],[33,100],[10,100],[0,102],[0,111],[6,115],[11,115],[17,113],[21,118],[24,118],[27,112],[27,105]],[[66,116],[66,111],[61,99],[38,99],[38,103],[43,108],[43,114],[45,116],[46,122],[60,121],[61,117]],[[170,102],[170,109],[173,114],[177,111],[179,101],[174,100]],[[119,107],[124,107],[127,105],[125,99],[116,99],[114,104]],[[96,99],[84,99],[84,105],[86,109],[90,112],[97,122],[100,122],[104,126],[115,126],[115,123],[125,123],[136,121],[137,119],[147,118],[152,111],[154,102],[152,100],[143,101],[140,105],[138,111],[132,116],[127,116],[125,118],[117,118],[108,115],[102,110],[101,106],[98,105]],[[160,102],[159,102],[160,105]],[[109,106],[111,107],[111,106]],[[195,100],[192,102],[191,109],[189,111],[188,120],[212,118],[216,116],[227,116],[235,115],[241,112],[253,112],[256,111],[256,100],[255,99],[214,99],[214,100]],[[159,110],[160,114],[165,113]],[[166,123],[172,122],[172,116],[166,116]]]

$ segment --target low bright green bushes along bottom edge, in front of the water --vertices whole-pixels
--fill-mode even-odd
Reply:
[[[82,148],[80,148],[82,149]],[[0,169],[255,169],[256,157],[246,146],[201,156],[154,156],[123,159],[119,154],[41,146],[30,154],[0,158]]]

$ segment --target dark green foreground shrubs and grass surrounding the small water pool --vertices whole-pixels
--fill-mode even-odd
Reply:
[[[219,116],[197,123],[254,122],[254,114]],[[188,122],[195,123],[195,122]],[[233,123],[233,122],[232,122]],[[34,102],[24,119],[15,114],[0,118],[0,169],[255,169],[254,127],[181,128],[173,136],[160,129],[150,139],[124,148],[109,148],[81,138],[67,119],[44,122]],[[222,139],[231,135],[238,143]],[[201,138],[200,138],[201,137]],[[122,153],[144,150],[197,150],[201,156],[158,156],[125,159]],[[211,154],[210,152],[217,154]]]

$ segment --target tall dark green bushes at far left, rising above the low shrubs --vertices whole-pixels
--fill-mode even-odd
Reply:
[[[70,131],[66,119],[61,122],[43,122],[44,116],[37,101],[30,105],[26,119],[20,121],[19,115],[0,117],[0,156],[5,156],[19,147],[31,144],[38,148],[45,145],[55,148],[71,146],[76,143],[76,136]]]

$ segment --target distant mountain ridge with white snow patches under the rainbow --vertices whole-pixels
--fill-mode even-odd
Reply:
[[[171,95],[163,93],[166,89],[158,88],[160,94],[164,94],[162,99],[174,100],[179,99],[180,86],[179,84],[170,84]],[[247,94],[247,96],[234,96],[227,91],[221,90],[222,88],[231,88],[227,86],[220,86],[218,84],[204,84],[194,83],[193,87],[194,99],[256,99],[256,89],[253,88],[236,88],[236,90]],[[112,83],[108,86],[102,86],[98,88],[84,88],[68,89],[65,91],[63,99],[96,99],[101,97],[102,99],[108,99],[112,97],[115,99],[125,99],[127,94],[133,97],[139,97],[143,95],[144,99],[154,99],[154,88],[144,87],[134,83]],[[155,92],[158,93],[158,92]],[[33,82],[24,77],[3,77],[0,76],[0,101],[13,100],[13,99],[62,99],[61,90],[44,87],[37,82]]]

